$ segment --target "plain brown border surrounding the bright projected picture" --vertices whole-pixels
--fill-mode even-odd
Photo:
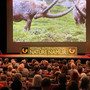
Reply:
[[[12,1],[7,1],[7,53],[20,53],[23,46],[26,47],[77,47],[78,54],[85,54],[90,43],[90,20],[89,18],[89,0],[87,1],[87,17],[86,17],[86,42],[13,42],[13,15]]]

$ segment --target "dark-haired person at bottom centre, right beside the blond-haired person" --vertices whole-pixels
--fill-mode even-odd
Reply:
[[[49,78],[44,78],[41,83],[42,90],[51,90],[51,82]]]

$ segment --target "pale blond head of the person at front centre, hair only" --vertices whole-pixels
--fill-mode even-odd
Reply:
[[[41,86],[41,82],[42,82],[42,77],[39,74],[36,74],[33,78],[33,82],[32,85],[34,87],[40,87]]]

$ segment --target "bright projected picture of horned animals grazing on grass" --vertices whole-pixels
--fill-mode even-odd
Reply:
[[[85,42],[86,0],[13,0],[14,42]]]

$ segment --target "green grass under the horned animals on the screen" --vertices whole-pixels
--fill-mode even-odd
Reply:
[[[59,13],[67,10],[62,6],[54,6],[50,13]],[[33,19],[31,30],[24,31],[26,21],[13,22],[14,42],[85,42],[85,26],[77,26],[72,11],[59,18]]]

